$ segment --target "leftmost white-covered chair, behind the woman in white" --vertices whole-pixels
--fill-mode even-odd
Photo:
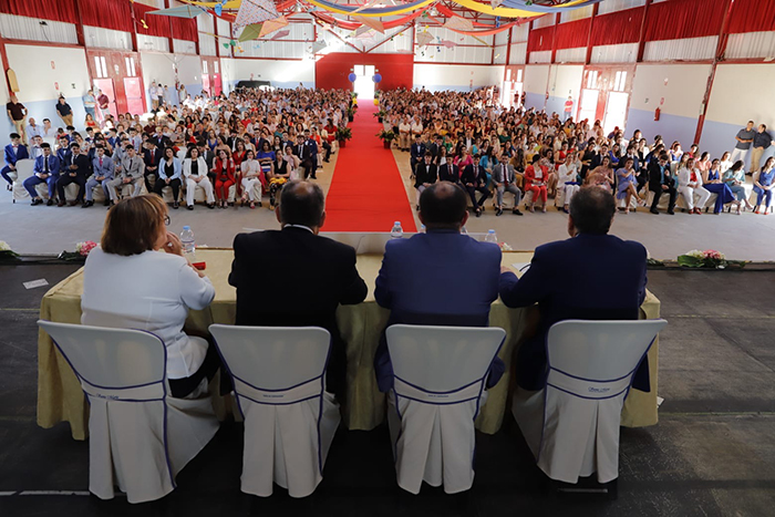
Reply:
[[[168,396],[166,349],[140,330],[39,320],[72,366],[90,403],[89,490],[130,503],[164,497],[175,476],[215,436],[209,400]]]

